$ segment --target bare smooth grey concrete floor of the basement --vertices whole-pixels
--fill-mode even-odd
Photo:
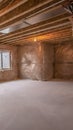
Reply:
[[[73,130],[73,82],[1,83],[0,130]]]

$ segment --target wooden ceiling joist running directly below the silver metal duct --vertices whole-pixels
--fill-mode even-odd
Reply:
[[[10,34],[7,34],[6,36],[4,37],[0,37],[1,39],[4,39],[4,38],[7,38],[7,37],[12,37],[12,36],[18,36],[18,35],[21,35],[22,33],[26,33],[27,31],[32,31],[33,29],[37,29],[37,28],[40,28],[40,27],[43,27],[43,26],[51,26],[52,24],[55,24],[57,22],[60,22],[60,21],[64,21],[66,20],[68,22],[68,14],[62,14],[62,15],[59,15],[59,16],[56,16],[56,17],[53,17],[51,19],[48,19],[46,21],[42,21],[40,23],[37,23],[37,24],[34,24],[34,25],[31,25],[29,27],[26,27],[26,28],[23,28],[23,29],[20,29],[18,31],[15,31],[15,32],[12,32]]]

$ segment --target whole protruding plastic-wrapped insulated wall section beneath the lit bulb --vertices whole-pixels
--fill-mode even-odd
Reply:
[[[19,47],[19,77],[49,80],[53,78],[53,46],[34,43]]]

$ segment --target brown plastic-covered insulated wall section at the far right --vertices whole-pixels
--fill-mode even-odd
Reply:
[[[64,42],[55,46],[55,78],[73,79],[72,42]]]

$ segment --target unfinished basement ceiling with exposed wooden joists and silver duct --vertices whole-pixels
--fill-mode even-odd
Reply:
[[[0,0],[0,44],[72,39],[66,0]],[[72,19],[72,20],[70,20]]]

